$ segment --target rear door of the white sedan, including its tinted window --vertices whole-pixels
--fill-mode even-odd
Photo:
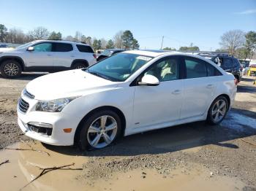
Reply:
[[[214,78],[208,77],[211,64],[199,58],[184,56],[184,101],[181,119],[200,117],[208,109],[217,87]],[[209,74],[208,74],[209,73]]]

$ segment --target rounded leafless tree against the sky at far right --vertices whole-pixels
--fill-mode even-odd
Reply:
[[[241,30],[227,31],[221,36],[219,43],[223,49],[229,51],[230,55],[234,55],[239,47],[242,47],[245,42],[244,32]]]

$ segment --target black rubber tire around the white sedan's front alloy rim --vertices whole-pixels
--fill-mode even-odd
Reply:
[[[121,135],[121,119],[120,119],[120,117],[118,116],[118,114],[116,114],[116,112],[113,112],[111,110],[102,110],[102,111],[99,111],[99,112],[96,112],[96,113],[92,114],[90,117],[86,118],[81,123],[80,135],[78,136],[79,137],[78,146],[81,150],[102,149],[102,148],[108,147],[110,145],[110,144],[108,144],[108,145],[105,145],[104,147],[93,147],[89,143],[89,142],[91,142],[88,139],[88,137],[89,137],[89,128],[90,128],[91,125],[95,124],[94,123],[95,120],[97,120],[99,117],[102,117],[102,116],[113,117],[113,119],[116,120],[116,126],[117,126],[116,135],[114,136],[113,141],[111,141],[110,144],[113,144],[113,142],[115,142],[120,137],[120,135]],[[107,120],[106,124],[107,123],[108,123],[108,120]],[[108,131],[108,132],[110,132],[110,131]],[[95,133],[95,138],[98,134],[99,133]],[[101,135],[101,138],[99,139],[99,144],[102,144],[101,142],[105,142],[105,138],[104,138],[103,135]]]

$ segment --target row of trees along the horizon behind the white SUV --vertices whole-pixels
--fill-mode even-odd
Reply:
[[[50,40],[67,40],[72,42],[85,42],[91,45],[94,50],[100,50],[105,48],[121,48],[126,50],[139,49],[140,44],[138,40],[133,37],[131,31],[118,31],[113,39],[97,39],[91,38],[91,36],[85,36],[80,31],[75,32],[75,36],[62,36],[60,31],[48,31],[47,28],[39,26],[34,30],[24,33],[18,28],[7,29],[6,26],[0,24],[0,42],[24,44],[33,40],[50,39]]]

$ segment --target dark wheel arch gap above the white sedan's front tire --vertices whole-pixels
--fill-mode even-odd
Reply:
[[[80,130],[82,129],[82,125],[83,125],[83,122],[85,120],[87,120],[89,117],[91,117],[91,115],[93,115],[94,113],[96,112],[99,112],[99,111],[102,111],[102,110],[111,110],[113,112],[116,112],[116,114],[118,114],[118,116],[120,117],[121,119],[121,135],[124,135],[124,130],[126,128],[126,119],[124,117],[124,113],[121,112],[120,109],[118,109],[117,107],[115,106],[99,106],[93,110],[91,110],[91,112],[89,112],[88,114],[86,114],[82,120],[80,120],[79,124],[78,124],[78,127],[76,128],[75,130],[75,136],[74,136],[74,144],[77,144],[78,141],[79,141],[79,134],[80,134]]]

